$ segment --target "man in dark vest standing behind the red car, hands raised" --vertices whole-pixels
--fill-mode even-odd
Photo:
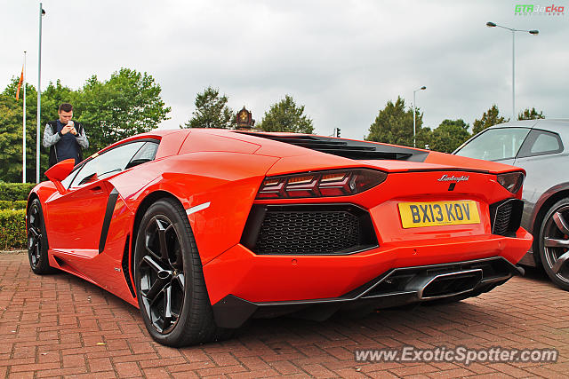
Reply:
[[[44,130],[44,147],[50,148],[50,167],[69,158],[75,164],[83,161],[82,149],[89,147],[83,125],[71,120],[73,106],[68,103],[60,105],[60,119],[47,122]]]

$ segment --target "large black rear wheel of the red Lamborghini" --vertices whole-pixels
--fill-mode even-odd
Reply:
[[[134,250],[134,279],[142,319],[156,342],[180,347],[219,341],[218,328],[188,216],[173,199],[152,204]]]

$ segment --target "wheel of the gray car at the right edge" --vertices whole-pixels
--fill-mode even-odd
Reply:
[[[557,201],[543,217],[538,244],[549,279],[569,291],[569,199]]]

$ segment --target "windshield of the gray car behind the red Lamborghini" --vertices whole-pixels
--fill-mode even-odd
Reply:
[[[527,128],[488,129],[454,154],[486,161],[515,158],[529,132]]]

